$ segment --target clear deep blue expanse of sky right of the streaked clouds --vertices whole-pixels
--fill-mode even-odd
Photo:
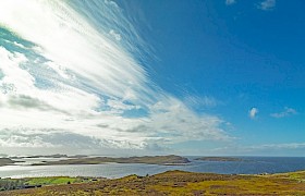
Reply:
[[[135,17],[142,17],[141,29],[158,57],[152,78],[181,99],[213,99],[212,106],[195,110],[230,122],[236,143],[265,145],[304,142],[302,5],[236,0],[136,1],[130,7],[133,14],[141,10]],[[258,110],[253,119],[252,108]]]

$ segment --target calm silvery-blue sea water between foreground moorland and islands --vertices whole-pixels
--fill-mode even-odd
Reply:
[[[192,162],[186,166],[157,166],[157,164],[80,164],[80,166],[8,166],[0,167],[0,177],[27,176],[103,176],[121,177],[129,174],[146,175],[168,170],[184,170],[192,172],[212,172],[223,174],[258,174],[279,173],[305,170],[305,158],[292,157],[244,157],[244,161],[195,161],[195,157],[187,157]],[[41,159],[27,159],[37,162]],[[45,159],[44,159],[45,160]]]

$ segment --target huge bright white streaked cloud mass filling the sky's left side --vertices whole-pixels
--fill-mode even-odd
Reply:
[[[0,24],[35,47],[30,56],[0,47],[0,146],[58,148],[66,135],[80,147],[115,149],[232,139],[224,121],[195,113],[149,79],[136,61],[138,36],[111,2],[97,3],[97,28],[65,1],[1,1]],[[112,27],[126,34],[112,32],[120,42]]]

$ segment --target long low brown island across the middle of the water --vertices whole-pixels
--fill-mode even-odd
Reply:
[[[101,164],[107,162],[117,163],[146,163],[146,164],[185,164],[190,160],[180,156],[145,156],[145,157],[123,157],[123,158],[112,158],[112,157],[85,157],[66,159],[59,161],[45,161],[41,163],[34,163],[33,166],[56,166],[56,164]]]

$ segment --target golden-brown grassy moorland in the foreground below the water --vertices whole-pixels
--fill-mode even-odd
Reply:
[[[49,182],[50,177],[46,177]],[[147,176],[129,175],[115,180],[80,182],[61,179],[59,185],[44,185],[45,177],[36,179],[33,188],[1,192],[2,196],[19,195],[305,195],[305,171],[232,175],[168,171]],[[69,181],[68,181],[69,180]],[[5,181],[5,180],[3,180]],[[12,180],[11,180],[12,181]],[[1,181],[0,181],[1,182]],[[1,186],[0,186],[1,187]],[[36,187],[36,188],[34,188]]]

